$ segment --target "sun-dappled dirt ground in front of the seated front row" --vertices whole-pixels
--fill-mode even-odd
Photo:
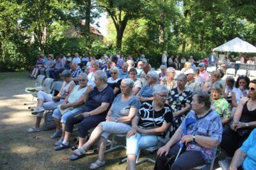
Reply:
[[[54,130],[26,132],[35,124],[35,115],[24,106],[31,101],[31,95],[24,89],[33,85],[35,80],[28,78],[28,73],[18,73],[18,76],[17,73],[0,73],[0,169],[89,169],[90,164],[97,160],[97,153],[70,161],[67,157],[72,154],[71,149],[58,152],[53,149],[56,139],[49,137]],[[74,132],[72,137],[76,136],[77,132]],[[148,155],[143,153],[142,156],[145,154]],[[150,157],[155,157],[155,154]],[[125,169],[126,163],[117,164],[124,158],[124,149],[107,153],[106,165],[99,169]],[[154,165],[146,162],[137,168],[153,169]]]

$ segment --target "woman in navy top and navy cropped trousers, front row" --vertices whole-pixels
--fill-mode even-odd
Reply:
[[[79,145],[82,146],[88,139],[88,130],[103,122],[108,113],[109,107],[114,100],[113,89],[107,83],[107,75],[102,70],[94,73],[95,88],[87,87],[84,94],[83,110],[73,113],[67,118],[65,126],[65,137],[63,142],[54,147],[55,150],[69,148],[70,134],[74,124],[79,124]]]

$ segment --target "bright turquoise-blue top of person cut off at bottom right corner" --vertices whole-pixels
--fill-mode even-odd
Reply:
[[[250,136],[244,141],[243,146],[240,148],[246,153],[243,162],[244,169],[256,169],[256,129],[254,129]]]

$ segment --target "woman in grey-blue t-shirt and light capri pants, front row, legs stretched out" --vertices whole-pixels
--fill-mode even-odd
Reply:
[[[132,94],[134,81],[131,78],[125,78],[121,83],[122,94],[116,96],[111,108],[108,111],[106,122],[101,122],[92,132],[90,139],[74,150],[74,155],[70,160],[78,159],[86,153],[90,146],[97,141],[99,148],[98,160],[91,164],[90,169],[95,169],[105,164],[104,152],[106,150],[106,142],[110,134],[126,134],[131,129],[132,118],[140,109],[140,101]]]

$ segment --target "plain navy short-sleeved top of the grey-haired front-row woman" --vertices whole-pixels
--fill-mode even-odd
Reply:
[[[96,87],[94,87],[92,92],[90,92],[90,94],[89,94],[88,100],[84,104],[83,111],[85,112],[85,111],[95,110],[96,108],[99,108],[101,103],[113,103],[114,98],[115,98],[114,91],[110,87],[110,85],[108,85],[101,92]],[[111,105],[109,105],[109,108],[110,108],[110,106]],[[109,110],[109,108],[108,108],[108,110]],[[108,110],[106,110],[106,111],[104,111],[103,113],[100,113],[100,114],[107,115]]]

